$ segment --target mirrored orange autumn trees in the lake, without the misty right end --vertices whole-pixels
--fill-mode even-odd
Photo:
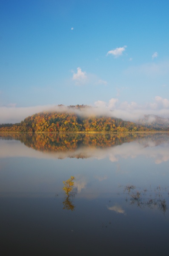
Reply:
[[[27,147],[46,152],[73,151],[80,147],[112,147],[141,138],[143,134],[1,134],[7,138],[15,138]],[[83,156],[81,156],[83,158]]]

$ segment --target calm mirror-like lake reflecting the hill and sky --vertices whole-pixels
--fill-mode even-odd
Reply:
[[[169,133],[0,134],[0,206],[1,255],[166,255]]]

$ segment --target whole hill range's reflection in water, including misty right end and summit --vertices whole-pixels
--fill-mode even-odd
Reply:
[[[27,147],[42,152],[74,152],[80,148],[109,148],[126,142],[137,140],[144,147],[155,147],[169,140],[168,133],[120,133],[120,134],[0,134],[3,139],[21,141]],[[81,150],[80,150],[81,151]],[[86,158],[83,151],[77,153],[77,158]]]

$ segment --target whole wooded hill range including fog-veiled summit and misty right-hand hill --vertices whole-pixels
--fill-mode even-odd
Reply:
[[[98,114],[87,105],[58,105],[57,111],[40,112],[17,124],[1,124],[0,132],[138,132],[169,131],[169,118],[144,115],[137,123]]]

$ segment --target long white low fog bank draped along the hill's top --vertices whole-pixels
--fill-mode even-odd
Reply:
[[[0,107],[0,124],[20,123],[26,117],[39,112],[74,112],[80,116],[109,116],[121,118],[124,121],[137,122],[144,115],[158,115],[163,118],[169,118],[169,100],[159,96],[155,97],[154,102],[138,105],[135,102],[127,101],[119,103],[119,100],[112,98],[108,103],[98,100],[94,106],[82,106],[81,108],[71,106],[32,106],[32,107],[16,107],[1,106]],[[153,119],[153,117],[151,117]],[[153,120],[152,120],[153,121]]]

